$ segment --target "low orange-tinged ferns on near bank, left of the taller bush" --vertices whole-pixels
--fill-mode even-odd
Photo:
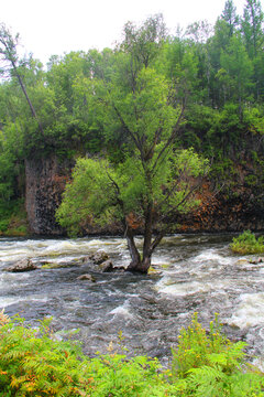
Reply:
[[[58,342],[51,320],[31,329],[0,313],[1,396],[170,396],[157,360],[112,353],[85,356],[78,344]]]

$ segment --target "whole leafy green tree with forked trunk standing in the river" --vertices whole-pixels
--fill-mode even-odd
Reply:
[[[164,73],[158,60],[166,56],[162,17],[139,29],[128,23],[124,35],[111,67],[91,81],[95,112],[109,146],[119,136],[119,161],[111,155],[78,160],[57,218],[72,230],[81,219],[121,221],[132,259],[128,270],[147,272],[172,214],[197,204],[195,191],[208,162],[176,144],[189,71],[169,77]],[[139,225],[142,251],[135,244]]]

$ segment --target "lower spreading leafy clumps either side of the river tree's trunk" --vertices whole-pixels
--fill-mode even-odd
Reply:
[[[207,161],[193,150],[179,150],[172,152],[155,178],[146,181],[136,158],[127,158],[116,168],[106,160],[78,159],[57,211],[57,221],[75,235],[85,223],[103,225],[122,221],[132,212],[143,217],[150,194],[156,212],[164,214],[170,207],[187,212],[198,203],[191,195],[188,178],[197,178],[206,168]]]

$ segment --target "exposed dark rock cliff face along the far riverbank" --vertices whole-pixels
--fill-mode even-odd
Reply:
[[[74,161],[58,162],[56,157],[26,160],[26,212],[30,229],[36,235],[62,235],[64,230],[55,221],[55,212],[62,201],[62,193],[70,178]],[[215,195],[205,185],[199,196],[200,206],[188,215],[174,216],[172,232],[242,232],[264,229],[264,203],[255,201],[249,190],[238,191],[232,197]],[[170,219],[172,221],[172,219]],[[169,230],[168,230],[169,232]],[[86,234],[122,234],[119,224],[91,227],[84,223]]]

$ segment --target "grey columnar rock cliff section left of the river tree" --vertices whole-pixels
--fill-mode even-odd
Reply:
[[[61,235],[55,219],[73,162],[56,157],[25,161],[25,207],[30,230],[36,235]]]

